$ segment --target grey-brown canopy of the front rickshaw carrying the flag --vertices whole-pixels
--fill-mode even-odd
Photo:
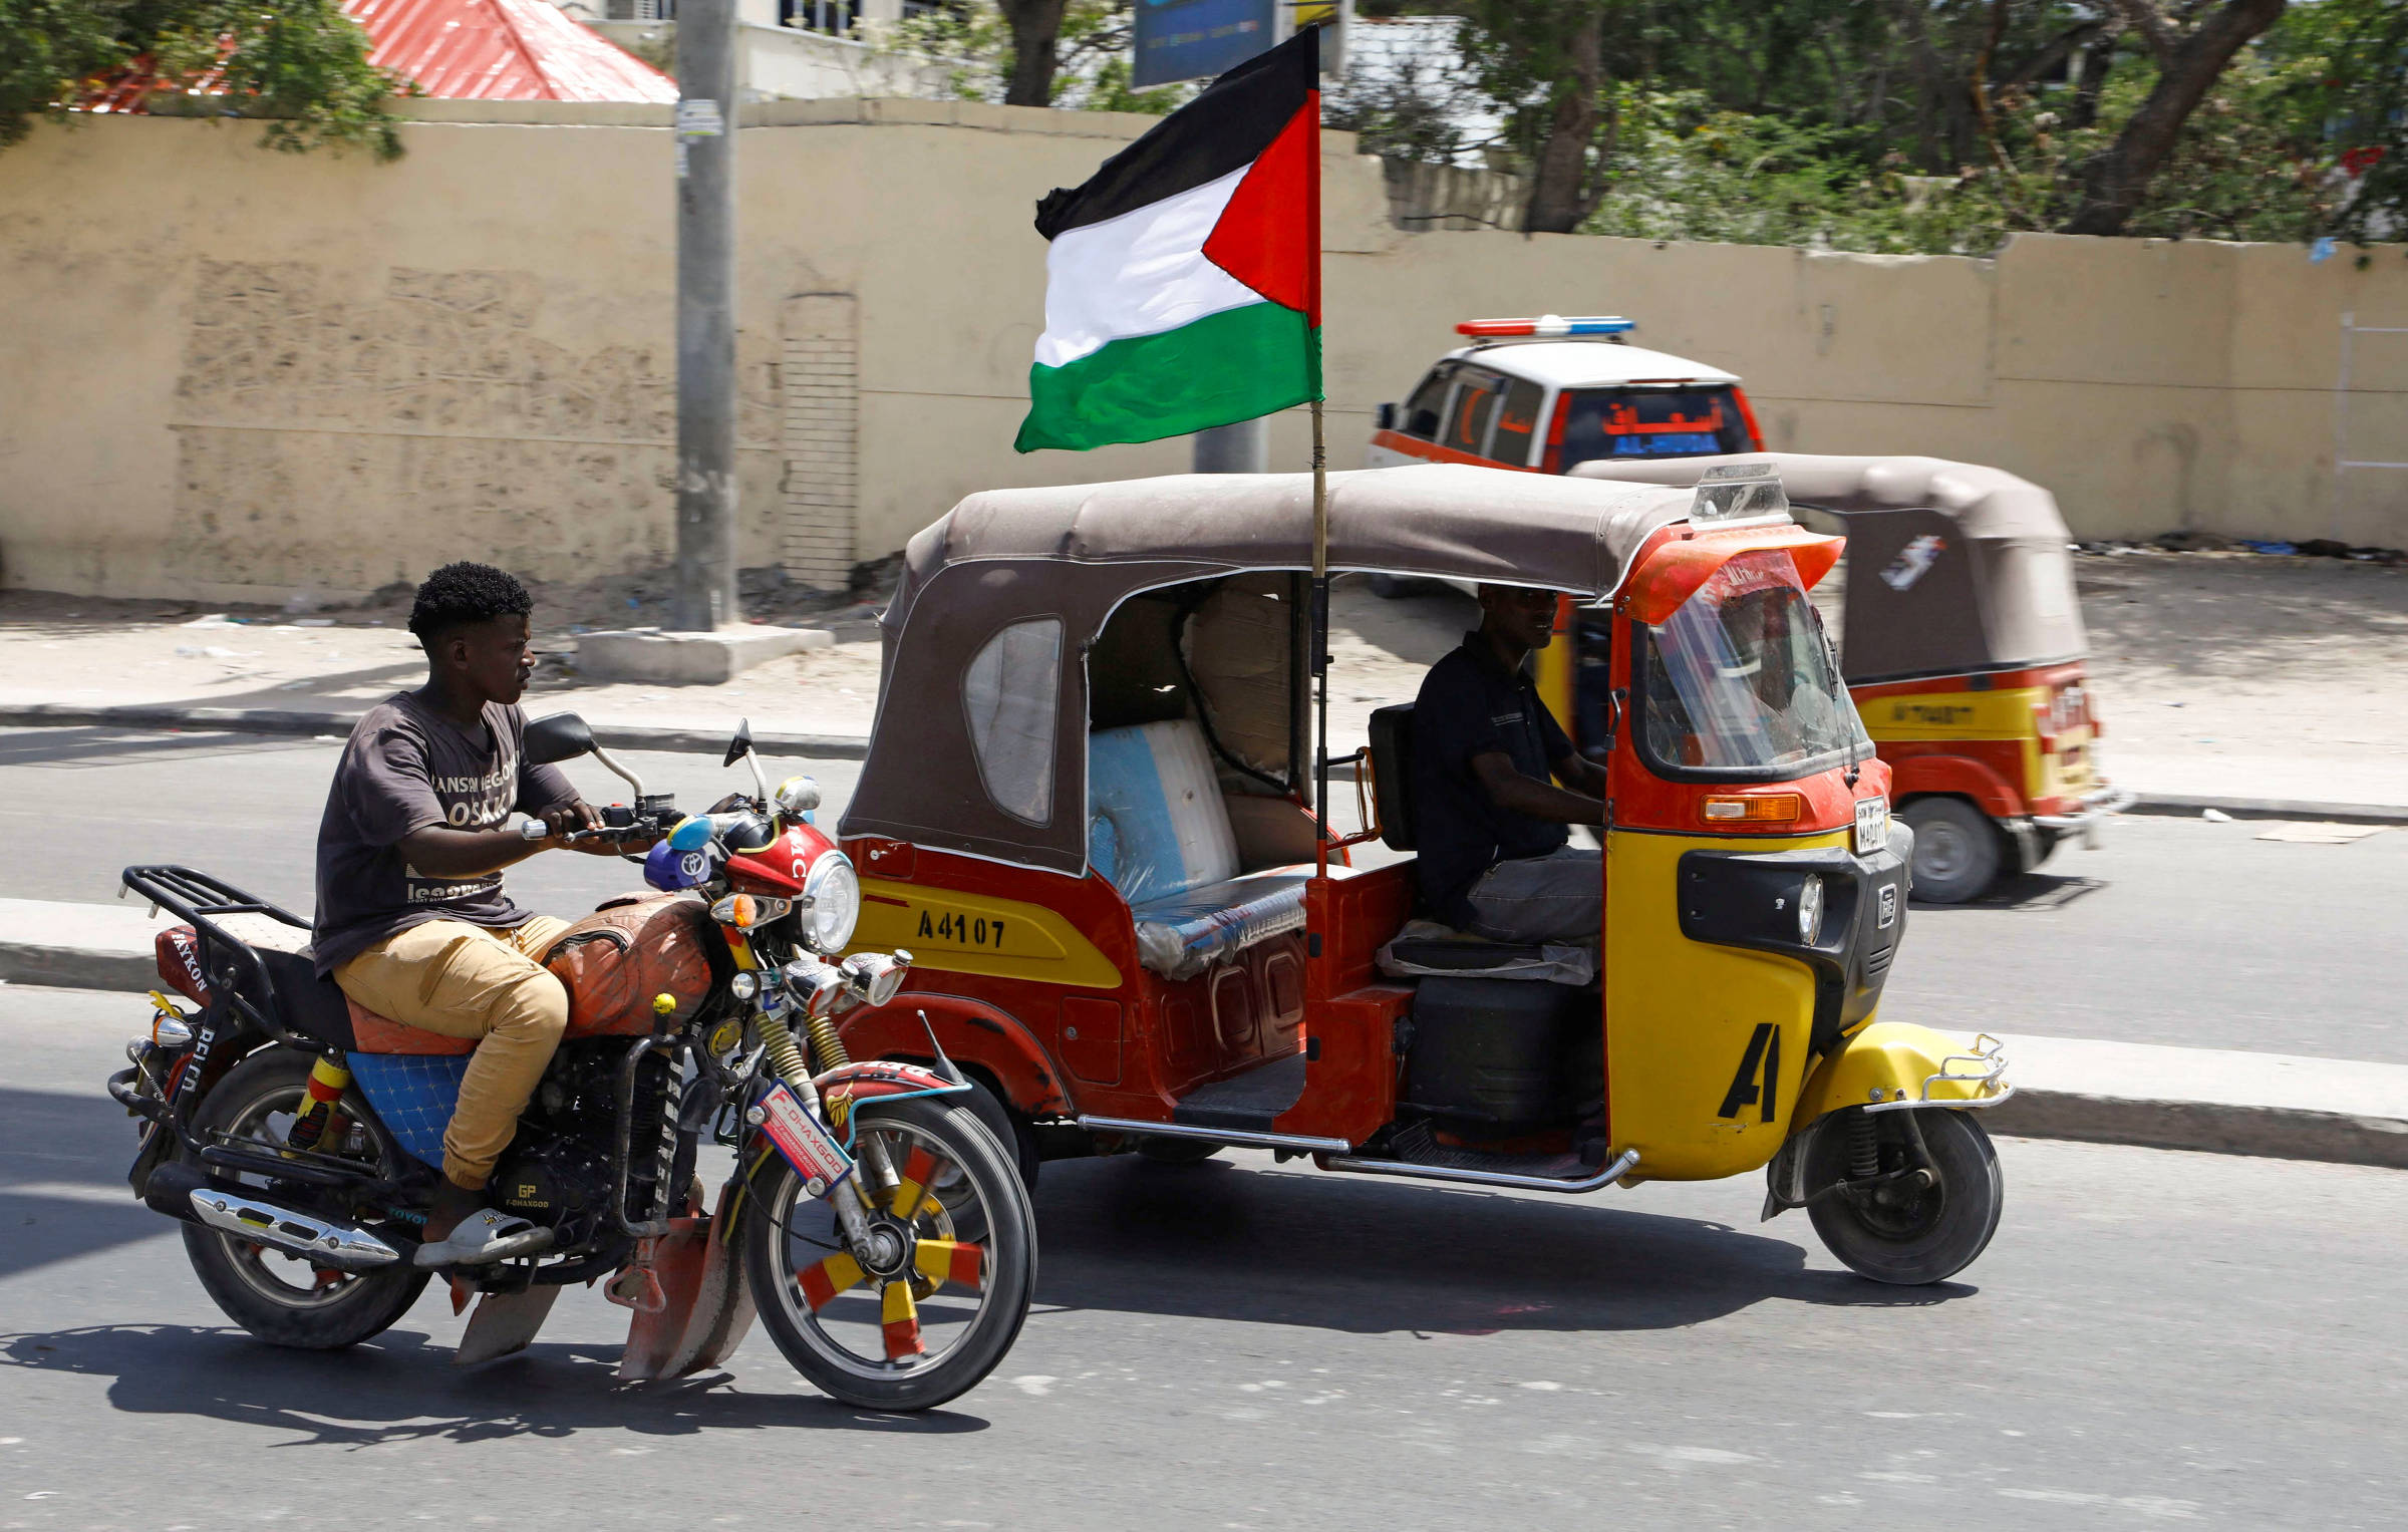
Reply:
[[[1469,465],[1334,472],[1329,568],[1601,600],[1688,506],[1686,491]],[[1103,624],[1146,590],[1310,566],[1312,475],[968,496],[903,549],[840,833],[1081,874],[1086,653]]]

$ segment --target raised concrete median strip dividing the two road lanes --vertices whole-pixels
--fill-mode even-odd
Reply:
[[[144,906],[0,898],[0,980],[161,988]],[[140,1007],[128,1009],[128,1026]],[[2408,1065],[2273,1053],[2006,1038],[2015,1094],[1991,1132],[2408,1168]]]

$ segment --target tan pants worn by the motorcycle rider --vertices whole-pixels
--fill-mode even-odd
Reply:
[[[551,915],[515,930],[429,920],[335,968],[342,992],[378,1017],[477,1038],[443,1130],[443,1175],[470,1190],[484,1188],[510,1147],[518,1113],[568,1026],[568,990],[537,961],[566,930]]]

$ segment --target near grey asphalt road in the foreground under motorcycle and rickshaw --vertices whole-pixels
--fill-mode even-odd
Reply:
[[[2396,1527],[2408,1173],[2001,1142],[1963,1281],[1881,1289],[1758,1178],[1565,1202],[1052,1163],[1040,1303],[951,1409],[609,1378],[571,1291],[448,1366],[226,1327],[120,1180],[140,1002],[0,990],[0,1527]]]

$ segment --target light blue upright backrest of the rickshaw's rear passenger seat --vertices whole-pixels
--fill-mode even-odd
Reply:
[[[1088,865],[1132,906],[1238,877],[1238,838],[1192,718],[1088,735],[1086,800]]]

